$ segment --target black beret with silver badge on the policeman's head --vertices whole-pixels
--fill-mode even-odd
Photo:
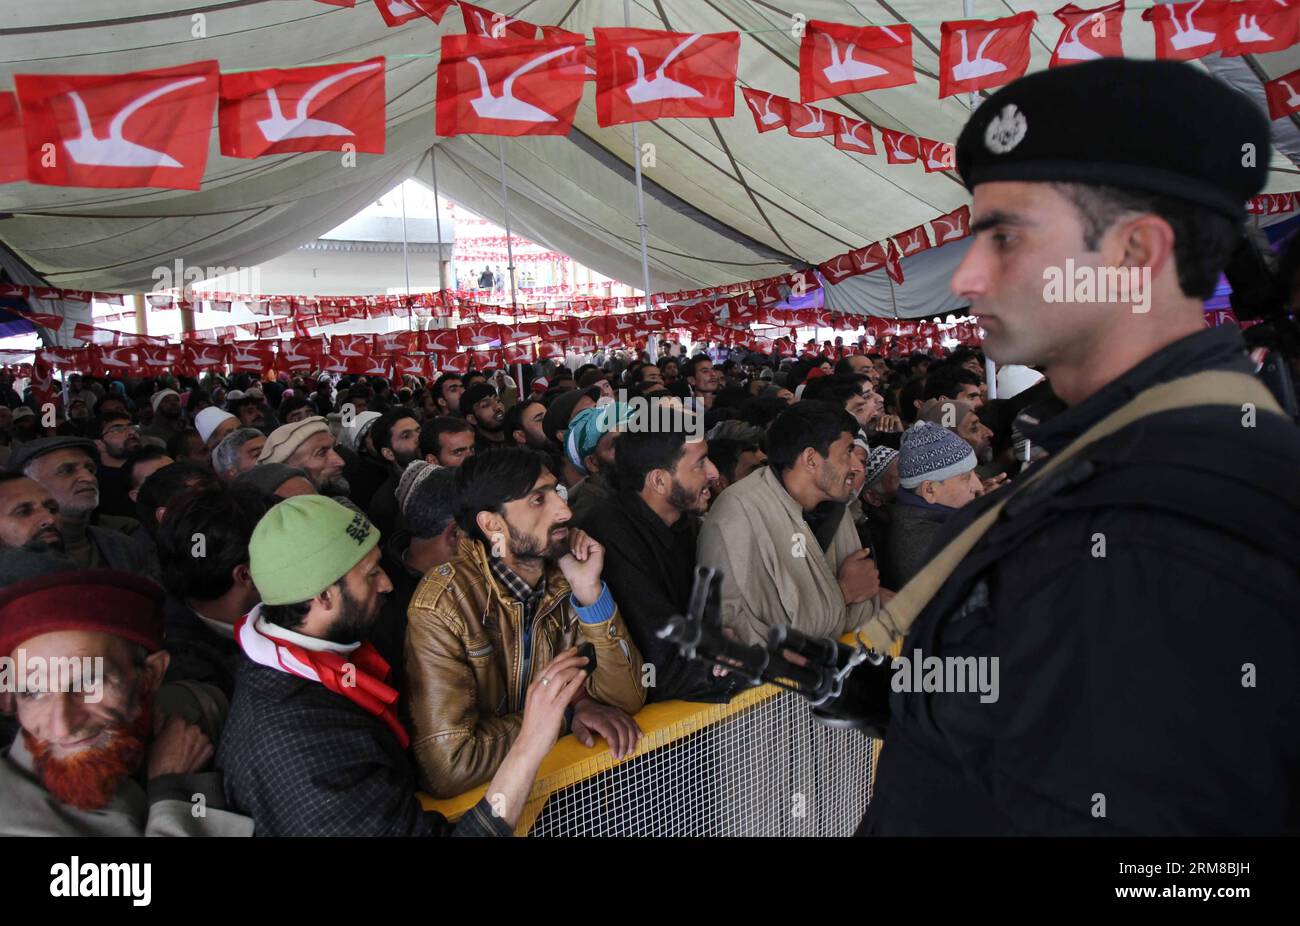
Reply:
[[[984,100],[957,139],[970,190],[992,181],[1115,186],[1234,220],[1264,189],[1269,159],[1260,105],[1180,61],[1102,59],[1030,74]]]

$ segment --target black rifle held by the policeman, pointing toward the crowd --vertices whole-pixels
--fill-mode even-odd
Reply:
[[[741,644],[723,635],[722,576],[696,567],[686,613],[670,618],[656,633],[676,644],[682,657],[740,675],[753,685],[771,684],[812,704],[812,717],[828,727],[858,730],[883,740],[889,724],[889,657],[867,648],[814,637],[793,627],[772,627],[767,645]]]

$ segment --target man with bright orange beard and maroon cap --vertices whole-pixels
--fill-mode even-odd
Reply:
[[[220,776],[203,771],[224,701],[204,685],[162,685],[162,592],[151,581],[78,570],[14,583],[0,592],[0,654],[26,666],[27,684],[46,667],[35,691],[14,696],[21,734],[0,753],[0,835],[252,835]]]

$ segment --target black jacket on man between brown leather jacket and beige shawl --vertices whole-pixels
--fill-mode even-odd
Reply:
[[[698,525],[684,515],[668,527],[636,493],[595,501],[575,524],[604,546],[602,574],[623,613],[641,657],[655,667],[650,701],[727,701],[740,688],[734,676],[714,678],[712,668],[684,659],[655,631],[685,614],[696,574]]]

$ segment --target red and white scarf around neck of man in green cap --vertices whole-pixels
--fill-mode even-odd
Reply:
[[[387,684],[391,668],[373,645],[306,637],[269,623],[260,610],[259,605],[235,624],[244,655],[259,666],[318,681],[384,721],[403,749],[411,745],[411,735],[398,719],[398,691]]]

